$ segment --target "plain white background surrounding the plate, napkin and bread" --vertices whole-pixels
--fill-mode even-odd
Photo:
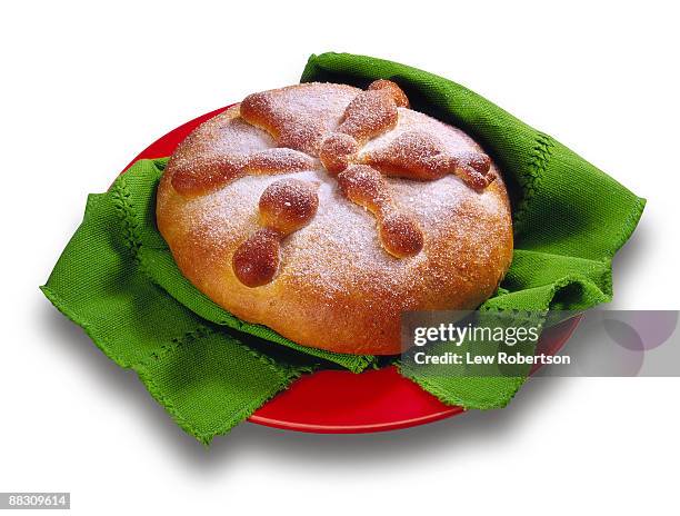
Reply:
[[[243,424],[204,449],[38,290],[148,143],[336,50],[462,82],[647,197],[613,306],[678,309],[672,2],[99,3],[0,14],[1,492],[69,490],[76,514],[679,514],[677,378],[533,380],[387,434]]]

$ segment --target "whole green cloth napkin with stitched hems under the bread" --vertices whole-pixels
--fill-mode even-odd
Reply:
[[[582,310],[611,299],[611,258],[634,229],[643,199],[447,79],[338,53],[312,56],[302,75],[302,81],[360,87],[378,78],[398,82],[414,109],[469,132],[501,167],[513,201],[516,252],[483,309]],[[299,346],[241,321],[189,284],[156,227],[164,165],[140,160],[108,192],[89,196],[82,224],[41,288],[107,356],[134,369],[186,431],[209,443],[301,374],[384,364]],[[523,381],[404,374],[467,408],[501,407]]]

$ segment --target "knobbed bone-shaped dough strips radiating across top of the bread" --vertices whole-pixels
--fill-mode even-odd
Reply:
[[[382,248],[397,258],[406,258],[421,251],[423,234],[414,220],[400,211],[383,175],[432,181],[454,173],[477,191],[496,179],[484,153],[446,153],[439,139],[423,131],[404,132],[386,148],[360,156],[369,140],[397,126],[398,108],[409,107],[406,93],[392,81],[377,80],[358,93],[333,131],[311,115],[291,112],[286,102],[277,102],[276,93],[250,95],[239,110],[241,119],[267,131],[277,148],[250,155],[211,155],[191,167],[179,167],[172,177],[174,190],[184,197],[201,196],[247,175],[310,170],[318,158],[336,177],[342,195],[376,217]],[[308,225],[317,212],[317,188],[311,181],[283,179],[264,190],[259,202],[261,228],[232,257],[239,281],[259,287],[273,280],[280,267],[281,240]]]

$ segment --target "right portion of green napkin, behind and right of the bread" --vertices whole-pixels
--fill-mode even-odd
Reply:
[[[500,166],[512,199],[516,250],[502,289],[482,309],[584,310],[611,300],[611,259],[636,228],[644,199],[544,132],[432,73],[323,53],[309,59],[301,81],[366,88],[376,79],[397,82],[413,109],[463,129]],[[402,373],[442,401],[468,408],[502,407],[526,379]]]

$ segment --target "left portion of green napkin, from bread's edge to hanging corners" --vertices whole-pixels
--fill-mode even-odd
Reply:
[[[109,358],[134,369],[203,443],[302,373],[333,363],[358,373],[372,361],[304,348],[241,321],[197,290],[156,227],[156,187],[166,162],[137,161],[108,192],[88,197],[82,224],[41,287],[59,310]]]

